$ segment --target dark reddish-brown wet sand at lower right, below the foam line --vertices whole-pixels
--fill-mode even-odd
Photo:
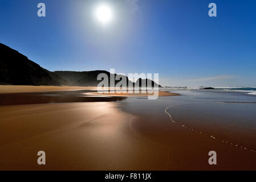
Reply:
[[[213,139],[209,133],[204,135],[188,130],[183,127],[183,123],[181,125],[173,123],[168,115],[167,118],[160,115],[141,115],[132,124],[133,130],[138,135],[168,148],[168,158],[163,163],[165,170],[256,169],[256,154],[249,148],[245,150],[240,146],[235,147],[230,143],[222,142],[218,137]],[[214,134],[218,136],[220,133],[214,132]],[[209,151],[217,152],[217,165],[209,165]],[[165,152],[162,151],[159,155]]]

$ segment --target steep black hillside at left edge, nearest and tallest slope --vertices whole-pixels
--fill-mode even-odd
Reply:
[[[0,84],[65,85],[67,81],[0,43]]]

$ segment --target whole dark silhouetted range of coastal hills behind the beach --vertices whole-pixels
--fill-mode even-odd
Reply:
[[[55,71],[50,72],[40,65],[27,59],[18,51],[0,43],[0,84],[1,85],[72,85],[72,86],[97,86],[101,80],[97,80],[100,73],[105,73],[108,78],[111,74],[107,71]],[[116,76],[116,74],[115,74]],[[128,85],[139,85],[141,78],[133,83],[127,76],[119,75],[120,79],[127,80]],[[120,80],[115,81],[115,85]],[[147,79],[144,80],[147,82]],[[110,85],[108,80],[108,86]],[[139,82],[139,83],[138,83]],[[152,86],[154,82],[151,81]],[[161,87],[161,85],[159,85]]]

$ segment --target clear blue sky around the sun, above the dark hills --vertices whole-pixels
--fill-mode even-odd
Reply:
[[[37,5],[46,5],[46,17]],[[113,10],[103,27],[98,3]],[[217,17],[208,5],[217,5]],[[0,42],[50,70],[159,73],[170,86],[255,86],[256,1],[0,2]]]

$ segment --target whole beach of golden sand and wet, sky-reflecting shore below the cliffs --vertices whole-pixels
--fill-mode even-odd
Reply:
[[[148,100],[97,96],[94,88],[4,87],[1,170],[256,169],[254,96],[223,104],[226,95],[188,90]],[[38,151],[46,165],[37,164]]]

